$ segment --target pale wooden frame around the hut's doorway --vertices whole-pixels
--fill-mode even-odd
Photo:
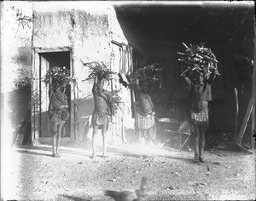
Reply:
[[[43,48],[33,48],[32,49],[32,142],[37,144],[43,141],[50,141],[50,137],[39,137],[39,132],[41,128],[40,122],[40,55],[44,53],[51,52],[69,52],[70,53],[70,73],[73,78],[73,49],[69,47],[63,47],[58,49],[43,49]],[[70,83],[70,99],[71,99],[71,108],[70,108],[70,137],[65,137],[62,141],[74,141],[74,106],[73,106],[73,82]],[[35,97],[33,99],[33,97]]]

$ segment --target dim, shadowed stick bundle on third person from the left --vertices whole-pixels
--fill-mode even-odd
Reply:
[[[160,79],[160,71],[162,67],[159,64],[151,64],[148,66],[144,66],[143,68],[137,69],[136,72],[131,73],[131,81],[134,83],[136,79],[140,82],[143,81],[158,81]]]

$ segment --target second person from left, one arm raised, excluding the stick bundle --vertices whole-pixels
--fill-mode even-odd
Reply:
[[[92,94],[94,99],[94,111],[91,118],[92,133],[92,158],[96,158],[96,134],[98,129],[102,129],[103,155],[106,158],[107,154],[107,139],[106,133],[108,131],[108,116],[112,115],[111,95],[103,89],[104,78],[96,75]]]

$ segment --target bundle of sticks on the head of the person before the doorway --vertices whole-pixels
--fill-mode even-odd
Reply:
[[[72,78],[70,78],[70,72],[67,67],[54,66],[46,72],[42,80],[52,89],[54,87],[65,87],[72,81]]]

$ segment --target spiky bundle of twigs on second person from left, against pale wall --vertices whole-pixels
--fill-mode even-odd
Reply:
[[[99,79],[106,79],[109,81],[112,79],[112,75],[115,74],[115,72],[111,72],[103,62],[99,63],[93,61],[90,63],[82,63],[84,66],[87,66],[90,69],[90,74],[85,80],[94,79],[96,76],[98,76]]]

